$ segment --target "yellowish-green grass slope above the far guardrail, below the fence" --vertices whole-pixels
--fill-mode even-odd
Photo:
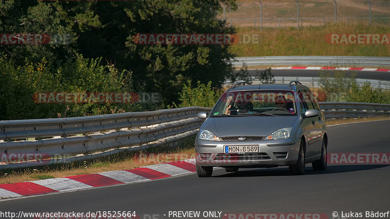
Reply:
[[[328,44],[328,34],[386,34],[389,26],[331,24],[321,27],[265,28],[238,27],[237,34],[259,34],[252,43],[237,43],[230,51],[243,56],[341,55],[390,56],[390,44]],[[351,66],[354,66],[351,63]]]

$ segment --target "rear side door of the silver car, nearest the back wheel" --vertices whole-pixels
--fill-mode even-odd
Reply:
[[[314,99],[314,96],[310,90],[305,90],[305,93],[307,95],[307,98],[305,98],[305,101],[308,105],[309,109],[315,109],[315,110],[320,110],[318,107],[318,104],[316,104],[316,101]],[[321,112],[318,117],[312,117],[312,124],[313,124],[313,129],[312,129],[312,139],[310,142],[308,141],[308,144],[311,145],[311,154],[317,155],[321,153],[321,146],[322,146],[322,136],[324,134],[323,126],[324,126],[324,119],[321,118]]]

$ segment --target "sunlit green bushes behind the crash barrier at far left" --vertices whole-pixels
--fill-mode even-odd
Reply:
[[[53,69],[45,58],[40,63],[17,66],[0,56],[0,120],[79,117],[142,110],[137,103],[39,103],[39,92],[131,92],[131,73],[113,65],[101,65],[101,58],[81,55]]]

